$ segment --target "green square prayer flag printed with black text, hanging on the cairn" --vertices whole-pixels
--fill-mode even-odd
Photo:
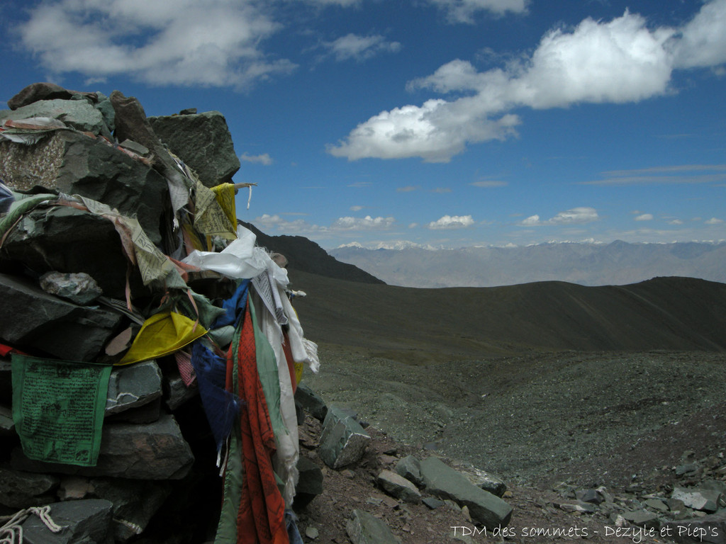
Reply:
[[[111,367],[12,354],[12,417],[23,453],[96,466]]]

